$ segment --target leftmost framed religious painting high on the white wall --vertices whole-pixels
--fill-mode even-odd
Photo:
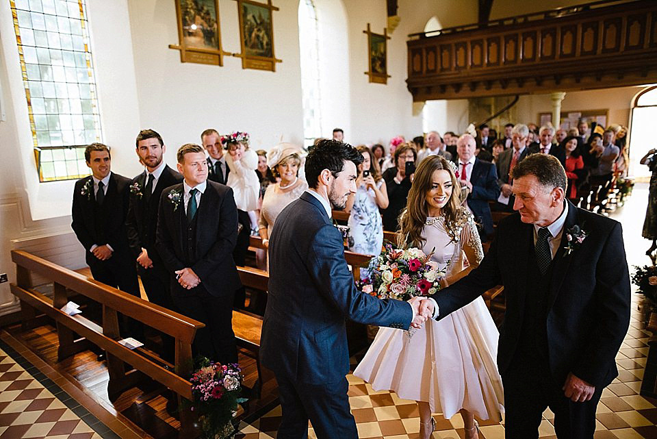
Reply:
[[[232,55],[221,48],[218,0],[174,0],[178,19],[179,45],[169,45],[180,51],[181,62],[222,66],[223,57]]]

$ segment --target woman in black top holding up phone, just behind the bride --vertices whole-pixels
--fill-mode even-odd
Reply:
[[[412,175],[406,175],[407,162],[417,162],[415,148],[408,143],[402,143],[394,155],[395,167],[389,168],[383,173],[385,187],[388,193],[388,207],[382,212],[383,229],[397,231],[397,218],[406,207],[406,201],[411,190]]]

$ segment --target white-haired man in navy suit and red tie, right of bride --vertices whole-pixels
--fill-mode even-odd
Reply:
[[[456,152],[459,153],[459,181],[461,187],[467,188],[465,206],[481,225],[481,239],[485,241],[489,236],[493,236],[494,231],[491,206],[488,202],[498,199],[500,186],[495,165],[476,158],[475,149],[476,142],[470,134],[463,134],[456,142]]]

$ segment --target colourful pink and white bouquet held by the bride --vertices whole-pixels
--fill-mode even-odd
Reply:
[[[361,291],[379,299],[407,301],[411,297],[428,296],[440,289],[445,271],[415,247],[396,249],[389,242],[383,244],[371,279],[361,281]]]

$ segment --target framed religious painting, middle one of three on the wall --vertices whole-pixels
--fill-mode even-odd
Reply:
[[[233,56],[242,58],[242,68],[276,71],[274,55],[274,27],[272,12],[279,10],[272,5],[272,0],[259,3],[251,0],[237,1],[240,16],[240,45],[242,53]]]

